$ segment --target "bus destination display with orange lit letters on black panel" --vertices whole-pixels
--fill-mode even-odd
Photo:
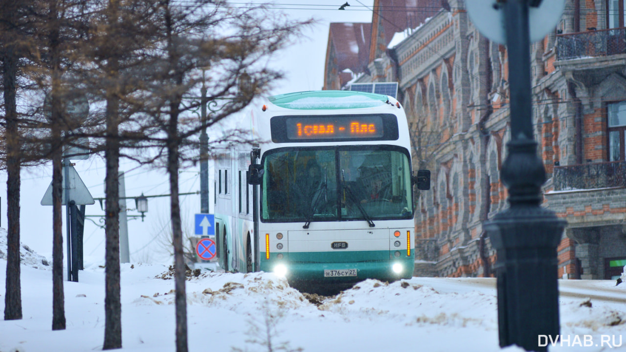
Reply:
[[[386,115],[275,116],[270,123],[274,142],[398,138],[395,118]]]

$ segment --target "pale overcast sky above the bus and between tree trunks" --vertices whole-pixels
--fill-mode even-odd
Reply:
[[[272,65],[282,68],[285,80],[275,84],[272,94],[292,91],[319,90],[324,84],[324,60],[328,40],[329,24],[334,22],[371,22],[373,0],[350,0],[351,6],[339,10],[346,0],[316,1],[275,1],[275,11],[283,11],[291,18],[316,18],[319,22],[305,31],[299,39],[279,53]],[[244,1],[239,2],[239,4]],[[237,4],[236,2],[233,4]],[[102,158],[91,157],[89,160],[76,160],[74,166],[93,197],[104,197],[105,167]],[[126,196],[168,194],[168,177],[163,171],[147,171],[136,165],[121,160],[120,170],[126,173]],[[199,166],[183,170],[180,173],[180,192],[196,192],[200,189],[198,179]],[[46,189],[52,180],[51,165],[23,168],[21,182],[21,242],[28,244],[39,254],[52,256],[52,207],[40,205]],[[210,183],[210,189],[213,189]],[[1,227],[7,227],[6,220],[6,172],[0,173],[0,220]],[[188,229],[193,230],[193,214],[200,212],[200,195],[181,196],[182,220]],[[210,197],[210,204],[213,203]],[[135,208],[135,202],[128,200],[127,207]],[[167,197],[151,198],[148,201],[148,213],[144,222],[129,220],[129,247],[131,262],[163,261],[165,256],[158,246],[158,237],[167,236],[170,229],[170,207]],[[63,207],[63,214],[65,208]],[[98,202],[86,207],[86,214],[102,215]],[[129,214],[137,214],[129,212]],[[93,218],[98,222],[98,218]],[[65,225],[65,216],[63,216]],[[163,232],[163,231],[166,232]],[[63,238],[66,232],[63,230]],[[104,230],[90,221],[85,225],[85,261],[103,261],[105,253]],[[64,245],[64,262],[67,254]]]

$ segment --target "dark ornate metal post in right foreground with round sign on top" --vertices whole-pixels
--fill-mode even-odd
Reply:
[[[468,13],[475,26],[486,37],[504,39],[508,50],[510,83],[511,141],[502,164],[501,179],[508,189],[510,207],[485,222],[491,244],[498,252],[498,333],[500,346],[517,344],[526,351],[547,351],[538,336],[559,333],[557,246],[561,241],[565,220],[540,206],[541,185],[546,180],[545,168],[536,154],[533,138],[530,41],[553,29],[563,11],[563,0],[468,0]],[[560,6],[561,11],[541,11],[545,6]],[[498,18],[485,28],[486,6]],[[473,12],[474,11],[474,12]],[[534,20],[530,11],[535,11]],[[545,33],[531,38],[529,23],[541,19]],[[534,27],[534,24],[533,24]],[[532,291],[528,291],[532,287]]]

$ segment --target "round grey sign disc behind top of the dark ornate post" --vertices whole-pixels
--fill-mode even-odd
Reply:
[[[506,43],[505,19],[501,1],[468,0],[465,3],[469,18],[483,36],[500,44]],[[557,26],[563,15],[565,0],[543,0],[528,11],[530,41],[541,40]]]

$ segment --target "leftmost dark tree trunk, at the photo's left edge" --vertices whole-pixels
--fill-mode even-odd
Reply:
[[[22,297],[19,267],[19,187],[20,142],[16,105],[18,60],[17,48],[3,48],[4,110],[6,119],[6,196],[7,196],[7,264],[4,319],[22,319]]]

